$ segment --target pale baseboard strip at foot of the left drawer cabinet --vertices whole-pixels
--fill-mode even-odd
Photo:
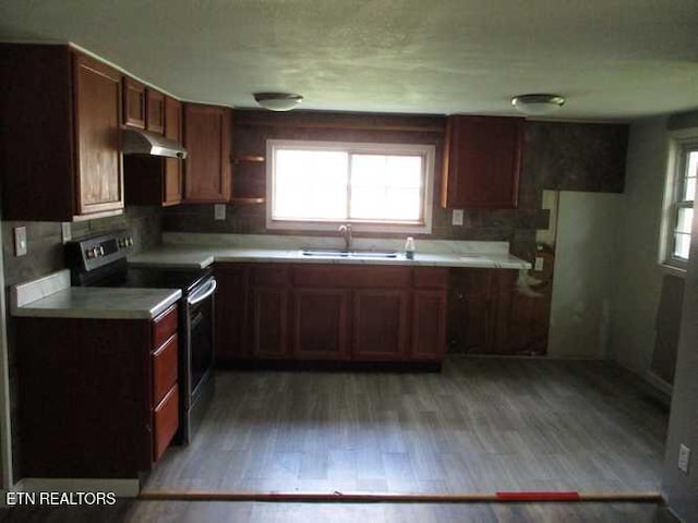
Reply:
[[[117,498],[136,498],[139,479],[25,477],[13,488],[20,492],[113,492]]]

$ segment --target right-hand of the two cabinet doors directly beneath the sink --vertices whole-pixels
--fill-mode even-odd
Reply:
[[[353,295],[356,360],[401,360],[407,356],[409,291],[361,289]]]

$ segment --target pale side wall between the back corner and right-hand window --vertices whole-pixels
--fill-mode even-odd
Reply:
[[[654,350],[663,273],[657,265],[666,175],[666,119],[630,125],[625,192],[617,222],[618,248],[611,356],[643,375]]]

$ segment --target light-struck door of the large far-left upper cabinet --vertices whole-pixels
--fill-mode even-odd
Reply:
[[[75,54],[74,85],[77,214],[122,209],[121,75]]]

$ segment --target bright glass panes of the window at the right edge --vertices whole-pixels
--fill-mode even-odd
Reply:
[[[664,204],[664,265],[686,269],[698,179],[698,138],[673,139]]]

